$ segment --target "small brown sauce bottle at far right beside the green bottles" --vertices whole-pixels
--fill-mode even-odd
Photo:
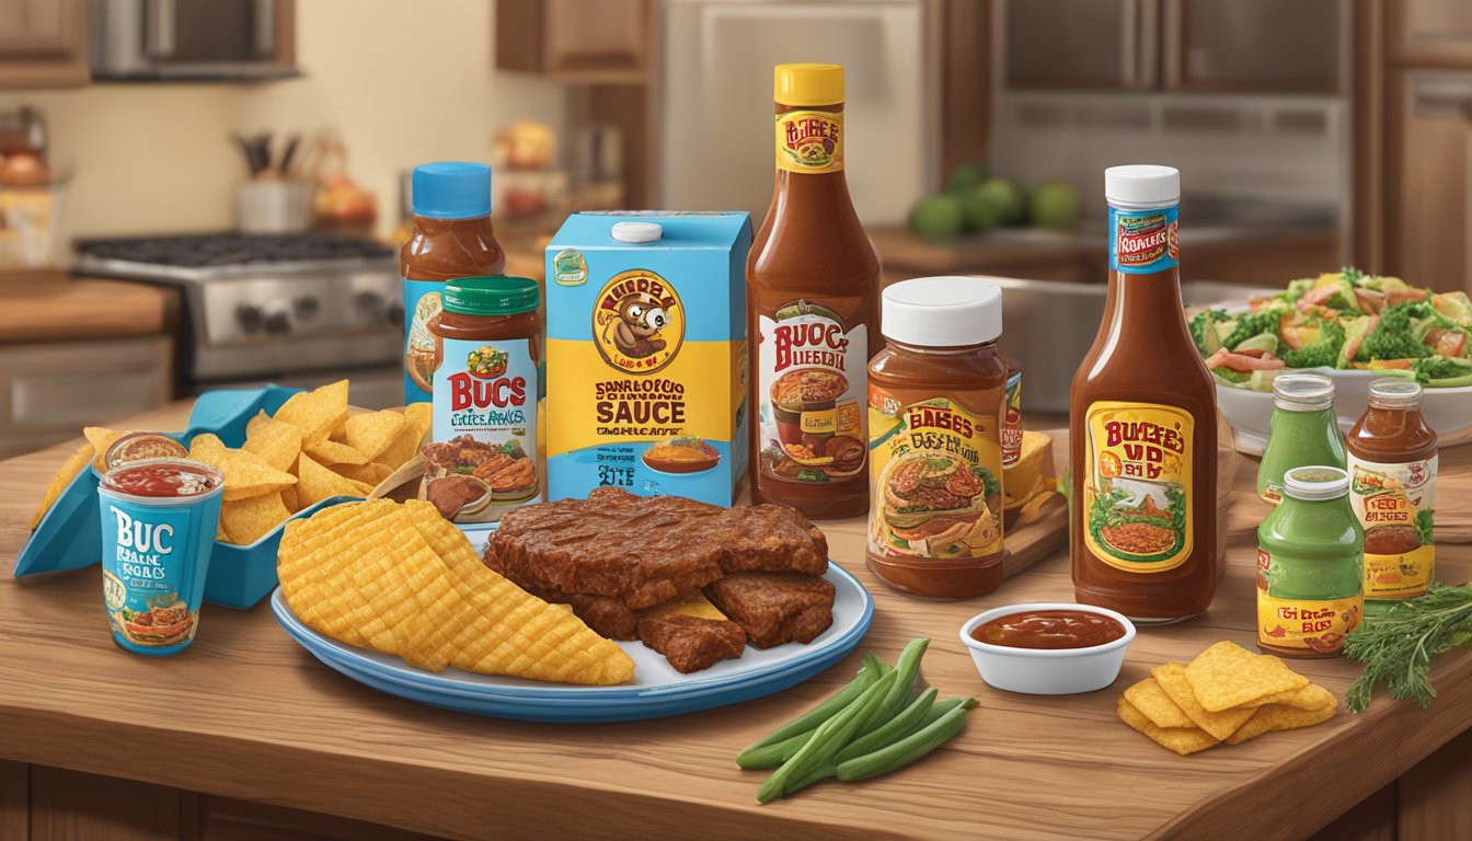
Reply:
[[[1365,526],[1365,598],[1418,597],[1435,577],[1437,433],[1420,414],[1420,384],[1375,380],[1350,429],[1350,504]],[[1378,613],[1375,601],[1367,601]]]

